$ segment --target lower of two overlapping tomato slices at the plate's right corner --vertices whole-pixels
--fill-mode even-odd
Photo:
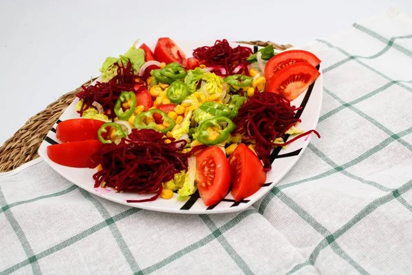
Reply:
[[[309,63],[295,63],[277,72],[266,85],[266,91],[294,100],[320,75]]]

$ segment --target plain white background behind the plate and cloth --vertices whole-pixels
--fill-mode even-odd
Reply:
[[[98,76],[106,56],[123,54],[135,39],[303,45],[390,5],[412,14],[411,0],[1,0],[0,144],[47,104]]]

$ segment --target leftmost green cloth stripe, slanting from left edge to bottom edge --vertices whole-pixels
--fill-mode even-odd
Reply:
[[[0,206],[2,206],[2,208],[7,206],[7,201],[5,200],[3,191],[1,190],[1,186],[0,186]],[[13,228],[14,233],[16,233],[17,239],[19,239],[25,254],[27,255],[27,260],[25,260],[25,262],[27,262],[26,265],[28,264],[32,265],[33,274],[41,274],[40,265],[38,265],[37,258],[34,255],[32,246],[30,245],[29,241],[27,241],[27,237],[25,236],[16,218],[14,218],[14,215],[12,213],[12,210],[10,210],[10,207],[4,210],[4,214],[5,214],[5,218],[10,223],[10,226]]]

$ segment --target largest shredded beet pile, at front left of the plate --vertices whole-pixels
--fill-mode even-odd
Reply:
[[[130,202],[153,201],[159,197],[164,181],[187,170],[187,157],[192,153],[182,152],[186,143],[185,140],[163,137],[153,129],[133,129],[119,144],[103,144],[91,156],[91,168],[102,166],[102,170],[93,175],[94,186],[104,182],[105,186],[118,192],[155,192],[154,197]]]

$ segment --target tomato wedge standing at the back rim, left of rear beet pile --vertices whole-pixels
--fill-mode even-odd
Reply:
[[[163,37],[157,41],[155,59],[166,64],[177,62],[184,65],[186,63],[185,53],[168,37]]]

